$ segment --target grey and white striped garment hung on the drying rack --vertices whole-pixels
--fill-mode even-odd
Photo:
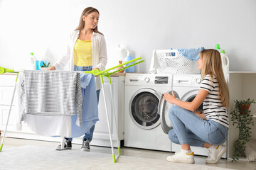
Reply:
[[[76,125],[82,125],[78,72],[24,70],[19,99],[20,122],[25,114],[65,116],[75,115],[76,110]]]

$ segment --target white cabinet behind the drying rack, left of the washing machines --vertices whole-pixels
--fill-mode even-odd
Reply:
[[[119,142],[124,140],[124,76],[111,77],[112,79],[112,92],[114,97],[114,106],[117,118],[117,129],[119,133]],[[0,74],[0,130],[4,130],[6,125],[7,116],[11,104],[11,98],[14,91],[16,81],[16,74],[6,75]],[[105,81],[105,95],[107,99],[107,109],[110,118],[110,128],[112,132],[112,140],[114,147],[117,147],[117,136],[114,126],[113,109],[110,96],[110,85],[108,79],[104,77]],[[92,138],[91,145],[110,146],[110,137],[107,128],[107,118],[105,113],[105,105],[102,96],[102,90],[100,91],[99,102],[99,118],[100,120],[95,125],[95,132]],[[6,132],[6,137],[18,137],[24,139],[33,140],[46,140],[46,141],[60,141],[59,137],[46,137],[36,134],[32,130],[28,129],[26,124],[22,125],[22,130],[16,130],[16,115],[18,114],[18,94],[15,94],[14,103],[11,108],[11,115]],[[2,133],[3,135],[3,133]],[[82,143],[82,137],[74,138],[73,143]]]

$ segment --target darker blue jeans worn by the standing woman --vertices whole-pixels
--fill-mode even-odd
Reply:
[[[91,71],[91,70],[92,70],[92,66],[79,67],[74,65],[74,71]],[[100,89],[96,91],[96,95],[97,95],[97,103],[99,104]],[[85,133],[85,136],[82,137],[82,140],[86,139],[89,142],[91,142],[94,130],[95,130],[95,125],[93,125],[92,128],[90,128],[90,132]],[[66,139],[69,141],[72,141],[72,138],[66,138]]]

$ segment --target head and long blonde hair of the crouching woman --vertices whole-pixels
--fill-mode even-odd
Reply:
[[[201,69],[202,78],[207,74],[210,74],[212,79],[213,75],[216,77],[219,85],[218,96],[220,97],[220,101],[223,103],[223,106],[228,108],[230,98],[228,85],[223,74],[220,52],[218,52],[218,50],[208,49],[202,50],[199,55],[203,58],[203,68]]]

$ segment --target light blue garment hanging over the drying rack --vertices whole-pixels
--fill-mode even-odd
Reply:
[[[85,132],[90,132],[90,128],[99,120],[95,77],[92,74],[80,74],[80,78],[82,88],[82,126],[75,125],[77,115],[72,115],[72,138],[80,137],[85,135]]]

